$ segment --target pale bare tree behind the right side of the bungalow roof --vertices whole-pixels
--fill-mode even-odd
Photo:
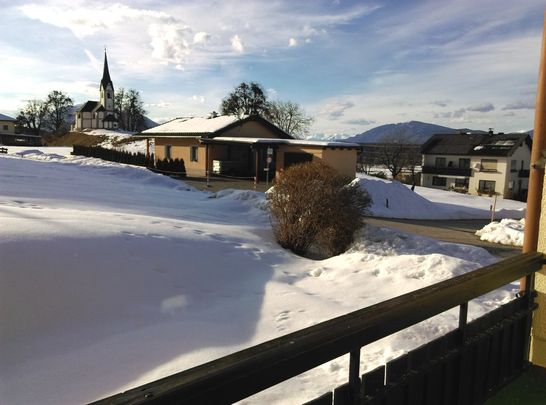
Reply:
[[[283,131],[295,136],[304,137],[309,133],[313,118],[305,114],[299,104],[292,101],[270,101],[267,118]]]

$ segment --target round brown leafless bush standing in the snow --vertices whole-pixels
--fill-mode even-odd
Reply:
[[[286,169],[267,195],[279,244],[299,255],[311,248],[328,256],[344,252],[371,204],[351,180],[320,162]]]

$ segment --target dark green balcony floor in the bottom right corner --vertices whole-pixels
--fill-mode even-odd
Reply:
[[[546,368],[531,366],[493,397],[486,405],[546,404]]]

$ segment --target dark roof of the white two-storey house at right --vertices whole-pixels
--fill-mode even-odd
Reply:
[[[528,134],[436,134],[421,147],[427,155],[511,156],[526,143]]]

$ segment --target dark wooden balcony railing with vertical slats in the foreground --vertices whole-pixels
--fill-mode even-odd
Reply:
[[[95,404],[226,404],[349,353],[348,383],[307,404],[475,404],[527,365],[532,277],[526,253],[231,354]],[[519,278],[514,301],[467,324],[468,301]],[[455,331],[360,376],[363,346],[459,306]]]

